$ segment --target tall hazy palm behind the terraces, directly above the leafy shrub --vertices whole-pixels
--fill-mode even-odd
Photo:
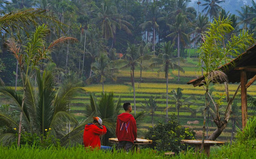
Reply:
[[[176,16],[176,22],[174,24],[167,24],[170,27],[170,33],[167,37],[173,37],[173,40],[177,39],[178,42],[178,57],[180,57],[180,42],[186,43],[188,42],[188,35],[184,33],[186,29],[186,16],[182,13],[179,13]],[[180,66],[180,61],[178,61],[178,66]],[[178,68],[178,81],[180,80],[180,69]]]

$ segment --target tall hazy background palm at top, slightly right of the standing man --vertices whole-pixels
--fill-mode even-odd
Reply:
[[[153,39],[152,39],[152,50],[155,51],[155,40],[156,40],[156,29],[158,29],[159,25],[157,24],[157,21],[159,20],[159,7],[156,6],[155,2],[151,4],[150,7],[150,20],[147,22],[143,22],[139,25],[142,29],[152,27],[153,28]],[[155,52],[154,52],[155,54]]]

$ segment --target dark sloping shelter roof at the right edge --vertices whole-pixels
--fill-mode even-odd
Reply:
[[[230,63],[219,67],[219,69],[227,75],[229,83],[240,82],[240,70],[247,71],[247,79],[254,77],[256,75],[256,44],[239,55],[236,59],[233,59]],[[203,85],[204,80],[205,77],[202,75],[197,79],[190,80],[187,84],[200,87]]]

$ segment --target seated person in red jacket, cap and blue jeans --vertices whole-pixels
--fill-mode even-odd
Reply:
[[[84,128],[84,147],[112,149],[112,147],[100,145],[100,136],[106,134],[106,127],[102,125],[101,118],[93,117],[93,119],[93,122],[85,125]]]

